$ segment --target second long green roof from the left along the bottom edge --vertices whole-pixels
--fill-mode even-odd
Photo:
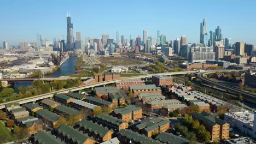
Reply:
[[[64,124],[61,125],[57,131],[69,140],[72,140],[73,143],[83,144],[87,139],[94,140],[92,137],[88,136],[88,134],[83,134],[82,132]]]

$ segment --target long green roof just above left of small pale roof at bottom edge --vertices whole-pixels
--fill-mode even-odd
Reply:
[[[111,129],[109,130],[107,127],[103,127],[101,124],[94,123],[92,121],[88,121],[87,119],[83,119],[78,123],[80,127],[84,127],[84,129],[88,129],[91,133],[98,134],[101,137],[104,137],[108,131],[114,131]]]

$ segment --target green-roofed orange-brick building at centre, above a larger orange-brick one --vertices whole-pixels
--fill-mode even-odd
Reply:
[[[142,109],[135,105],[127,106],[121,109],[114,110],[112,112],[114,117],[118,117],[123,121],[129,122],[134,119],[142,118]]]

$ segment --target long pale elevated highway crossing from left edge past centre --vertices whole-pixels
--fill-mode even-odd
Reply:
[[[69,91],[74,92],[74,91],[79,91],[81,89],[94,88],[97,86],[108,85],[110,83],[119,82],[124,79],[146,79],[146,78],[151,78],[152,75],[179,75],[179,74],[191,74],[191,73],[196,73],[196,71],[179,71],[179,72],[139,75],[139,76],[131,76],[131,77],[121,77],[121,79],[117,79],[117,80],[103,81],[103,82],[98,82],[98,83],[94,83],[94,84],[87,85],[87,86],[78,86],[78,87],[73,87],[73,88],[61,89],[61,90],[55,91],[55,92],[50,92],[50,93],[46,93],[46,94],[36,95],[33,97],[29,97],[29,98],[9,101],[7,103],[0,104],[0,109],[3,109],[6,104],[10,104],[10,103],[20,103],[20,104],[30,103],[32,101],[37,101],[40,99],[53,97],[54,93],[68,93]]]

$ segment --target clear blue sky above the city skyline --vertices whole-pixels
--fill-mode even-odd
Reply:
[[[85,37],[110,38],[124,35],[136,39],[147,29],[167,40],[187,35],[188,43],[199,43],[200,22],[206,18],[207,33],[222,28],[223,38],[231,43],[243,41],[256,45],[256,1],[254,0],[2,0],[0,43],[18,45],[19,41],[62,39],[67,35],[66,15],[71,13],[75,32]]]

